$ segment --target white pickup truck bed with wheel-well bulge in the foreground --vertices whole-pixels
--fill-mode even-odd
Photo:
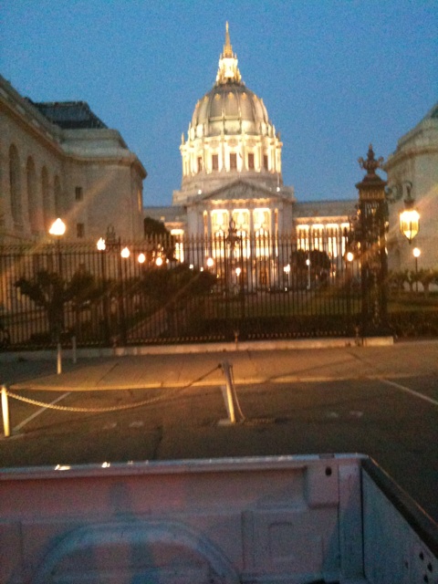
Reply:
[[[360,455],[0,470],[1,584],[437,584],[437,550]]]

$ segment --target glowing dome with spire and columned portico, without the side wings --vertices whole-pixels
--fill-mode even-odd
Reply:
[[[283,184],[281,148],[263,99],[242,80],[227,24],[214,87],[196,103],[180,146],[172,205],[184,208],[183,231],[220,235],[233,221],[240,235],[290,233],[295,198]]]

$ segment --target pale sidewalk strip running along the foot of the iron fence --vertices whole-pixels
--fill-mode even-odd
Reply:
[[[60,374],[55,352],[39,358],[35,353],[7,357],[4,353],[0,355],[0,384],[11,390],[53,391],[217,386],[224,384],[220,368],[224,361],[233,367],[236,385],[438,376],[438,340],[392,343],[368,339],[368,346],[362,347],[345,339],[343,345],[334,347],[333,340],[339,339],[294,341],[288,346],[284,341],[246,343],[237,349],[229,344],[215,351],[209,345],[204,350],[193,350],[193,346],[164,347],[162,351],[148,348],[152,349],[149,354],[93,358],[86,357],[91,351],[84,349],[78,352],[76,363],[66,351]],[[131,348],[130,352],[144,349]]]

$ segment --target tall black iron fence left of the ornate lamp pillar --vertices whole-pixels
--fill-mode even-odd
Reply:
[[[360,266],[339,231],[104,247],[0,246],[0,347],[350,336],[360,323]]]

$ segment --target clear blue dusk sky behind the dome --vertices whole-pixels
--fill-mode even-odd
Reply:
[[[438,0],[2,0],[0,73],[87,101],[146,168],[144,204],[167,205],[226,21],[298,201],[356,198],[369,144],[386,160],[438,100]]]

